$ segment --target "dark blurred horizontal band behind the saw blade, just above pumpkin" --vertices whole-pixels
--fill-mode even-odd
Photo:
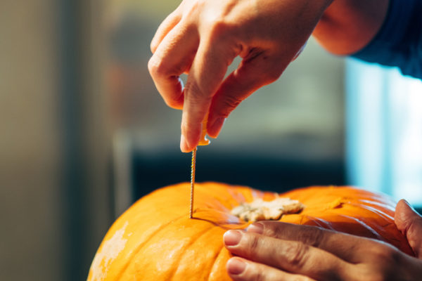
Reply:
[[[174,183],[190,180],[190,153],[132,155],[132,200]],[[215,153],[198,149],[196,181],[248,185],[260,190],[285,192],[309,185],[344,185],[341,160],[305,162],[248,153]]]

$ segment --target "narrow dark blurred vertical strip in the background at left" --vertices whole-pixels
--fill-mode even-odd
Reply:
[[[84,248],[87,247],[84,233],[85,214],[84,189],[86,176],[82,137],[82,58],[79,40],[82,36],[81,7],[79,1],[60,1],[60,120],[63,123],[63,176],[61,180],[63,206],[63,235],[65,243],[64,275],[66,280],[80,279],[84,275]]]

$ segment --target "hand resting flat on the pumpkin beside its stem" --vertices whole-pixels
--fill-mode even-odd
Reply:
[[[314,226],[260,221],[247,232],[229,230],[224,244],[236,257],[227,270],[236,281],[421,280],[422,217],[407,202],[395,223],[418,259],[389,244]]]

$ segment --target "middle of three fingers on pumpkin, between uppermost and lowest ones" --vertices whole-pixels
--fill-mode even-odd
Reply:
[[[224,244],[237,256],[316,280],[345,280],[354,270],[350,263],[328,251],[302,242],[229,230],[224,233]]]

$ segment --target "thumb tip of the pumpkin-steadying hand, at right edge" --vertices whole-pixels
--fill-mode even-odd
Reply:
[[[397,228],[406,235],[418,259],[422,259],[422,216],[406,200],[400,200],[395,209],[394,221]]]

